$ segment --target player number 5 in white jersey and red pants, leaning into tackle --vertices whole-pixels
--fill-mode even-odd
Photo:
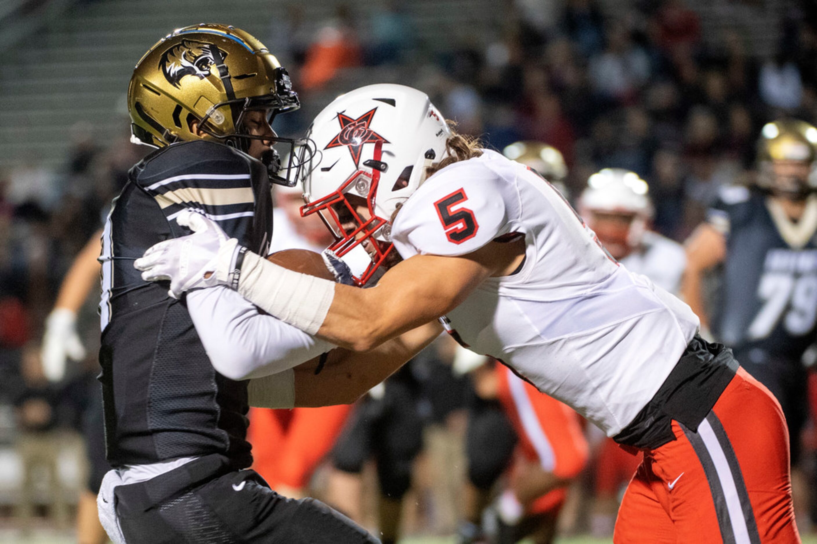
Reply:
[[[395,248],[404,259],[377,286],[288,271],[219,241],[213,222],[137,259],[145,279],[169,278],[173,294],[235,285],[271,315],[361,351],[447,316],[462,343],[645,451],[619,542],[797,542],[779,405],[696,335],[689,307],[610,259],[538,175],[451,133],[402,86],[342,95],[310,136],[323,155],[305,180],[306,211],[341,245],[364,244],[373,267],[391,265]],[[184,252],[190,243],[198,250]]]

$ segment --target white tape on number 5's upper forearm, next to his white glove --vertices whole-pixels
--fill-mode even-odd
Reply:
[[[314,335],[332,306],[335,284],[292,272],[248,251],[241,267],[239,293],[270,315]]]

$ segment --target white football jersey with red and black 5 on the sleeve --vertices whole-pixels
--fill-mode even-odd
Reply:
[[[608,436],[654,396],[698,329],[690,307],[631,274],[554,188],[485,151],[417,189],[392,228],[404,259],[471,253],[525,236],[525,263],[489,278],[449,313],[472,351],[494,356]]]

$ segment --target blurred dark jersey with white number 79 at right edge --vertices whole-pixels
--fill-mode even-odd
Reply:
[[[765,195],[726,188],[708,221],[727,247],[713,332],[737,352],[799,362],[815,341],[817,201],[792,223]]]

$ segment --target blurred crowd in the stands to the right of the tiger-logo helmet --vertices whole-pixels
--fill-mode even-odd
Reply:
[[[633,170],[650,182],[655,227],[683,240],[718,186],[748,178],[761,126],[784,116],[815,121],[817,8],[781,8],[779,42],[761,58],[737,30],[704,39],[683,0],[631,2],[615,16],[600,4],[505,2],[497,39],[463,38],[443,53],[418,42],[397,2],[363,19],[338,9],[315,36],[291,7],[266,42],[306,104],[328,90],[317,108],[378,70],[426,91],[458,130],[493,148],[556,147],[574,194],[600,168]],[[310,113],[286,122],[305,127]]]

